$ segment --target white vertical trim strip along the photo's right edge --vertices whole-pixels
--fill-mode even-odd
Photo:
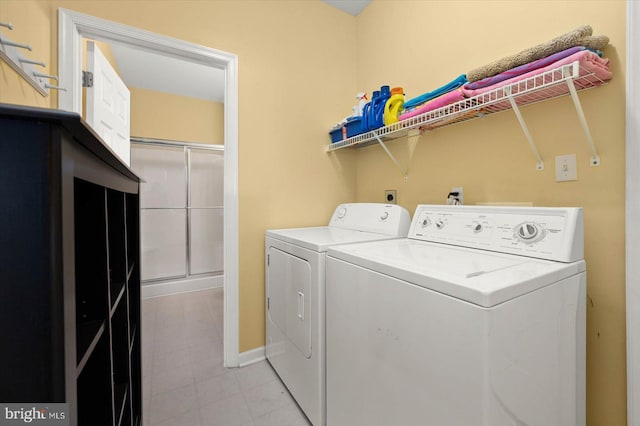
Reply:
[[[640,3],[627,2],[627,425],[640,426]]]

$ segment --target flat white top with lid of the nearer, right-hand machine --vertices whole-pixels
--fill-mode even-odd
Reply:
[[[342,245],[328,255],[483,307],[585,269],[584,261],[553,262],[411,239]]]

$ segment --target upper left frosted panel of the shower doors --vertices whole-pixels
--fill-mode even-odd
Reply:
[[[187,206],[187,173],[184,148],[132,145],[131,168],[140,183],[140,207]]]

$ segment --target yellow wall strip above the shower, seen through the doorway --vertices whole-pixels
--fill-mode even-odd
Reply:
[[[131,136],[224,144],[224,104],[130,87]]]

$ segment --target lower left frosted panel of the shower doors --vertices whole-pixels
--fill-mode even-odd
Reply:
[[[140,217],[142,280],[186,276],[186,210],[142,210]]]

